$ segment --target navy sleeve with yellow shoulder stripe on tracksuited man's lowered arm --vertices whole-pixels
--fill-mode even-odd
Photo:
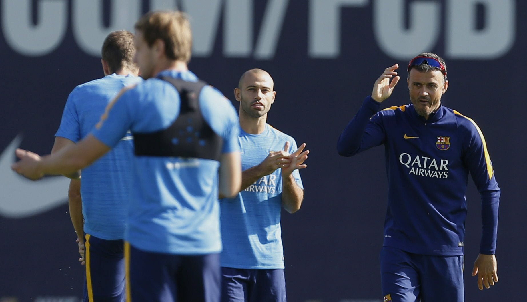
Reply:
[[[481,194],[481,219],[483,222],[480,253],[493,255],[496,250],[498,206],[500,188],[492,168],[485,138],[479,126],[472,120],[469,145],[463,154],[463,161]]]

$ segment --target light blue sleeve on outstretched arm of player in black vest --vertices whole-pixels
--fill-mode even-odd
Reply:
[[[132,106],[138,104],[137,93],[130,88],[124,88],[106,106],[99,123],[95,125],[92,134],[108,147],[113,148],[132,128]]]

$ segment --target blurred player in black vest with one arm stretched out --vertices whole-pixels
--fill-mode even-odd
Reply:
[[[43,158],[17,150],[21,161],[13,164],[30,179],[72,173],[131,130],[134,184],[125,258],[132,301],[220,299],[218,194],[232,197],[241,185],[239,125],[225,96],[187,69],[191,44],[183,13],[141,17],[136,63],[148,80],[116,96],[79,143]]]

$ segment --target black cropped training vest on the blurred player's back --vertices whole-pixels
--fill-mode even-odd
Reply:
[[[207,83],[172,77],[160,79],[174,85],[179,92],[179,116],[167,129],[150,133],[133,132],[135,155],[219,161],[223,141],[205,121],[199,105],[199,94]]]

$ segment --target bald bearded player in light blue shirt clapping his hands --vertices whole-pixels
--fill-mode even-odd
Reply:
[[[306,168],[309,151],[267,124],[273,86],[269,73],[252,69],[235,89],[243,172],[238,195],[220,201],[225,302],[286,301],[280,212],[300,209],[304,187],[298,169]]]

